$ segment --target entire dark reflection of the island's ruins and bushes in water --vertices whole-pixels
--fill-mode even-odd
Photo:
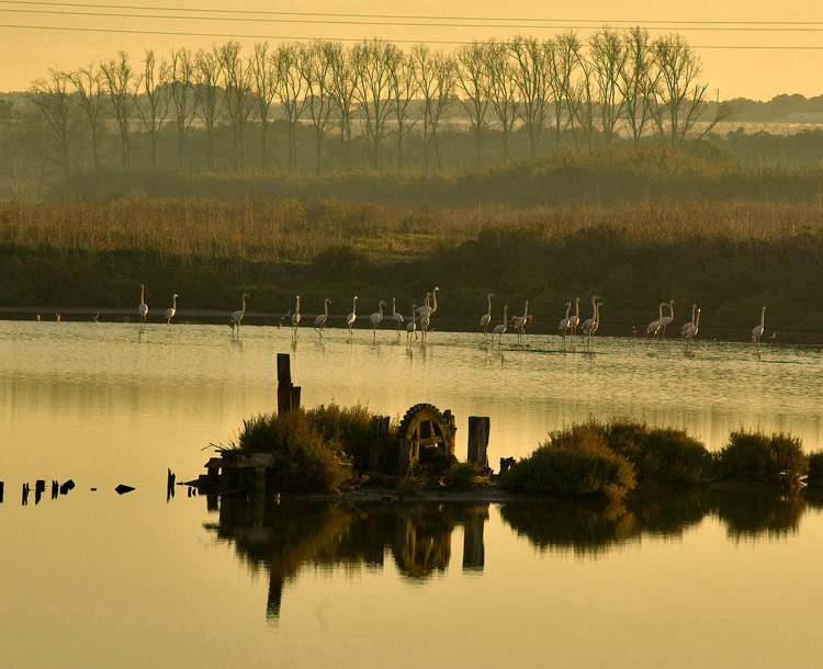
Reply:
[[[214,500],[210,504],[214,507]],[[269,572],[267,616],[280,615],[284,586],[304,566],[364,565],[382,569],[391,554],[406,579],[425,582],[451,560],[452,532],[463,532],[462,568],[485,566],[484,526],[489,503],[301,502],[264,504],[225,498],[219,521],[204,523],[218,542],[234,545],[249,569]],[[805,490],[678,491],[606,509],[534,500],[500,504],[504,522],[540,552],[580,558],[649,538],[679,538],[714,518],[730,541],[773,540],[797,533],[803,514],[823,509],[823,494]]]

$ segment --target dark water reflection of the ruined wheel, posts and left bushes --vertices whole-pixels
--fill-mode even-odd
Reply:
[[[303,565],[383,567],[391,553],[399,572],[425,580],[451,559],[452,531],[464,528],[463,568],[483,569],[483,528],[488,504],[264,506],[222,499],[219,522],[205,528],[234,544],[255,571],[269,571],[268,615],[277,617],[285,583]]]

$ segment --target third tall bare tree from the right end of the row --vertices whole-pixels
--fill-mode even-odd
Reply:
[[[606,146],[611,145],[618,121],[625,109],[625,97],[621,93],[619,83],[627,59],[625,41],[617,31],[604,27],[591,35],[589,63]]]

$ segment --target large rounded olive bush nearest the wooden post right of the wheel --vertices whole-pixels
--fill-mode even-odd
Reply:
[[[506,473],[504,484],[556,497],[618,502],[634,488],[635,479],[632,464],[587,423],[550,433],[549,441]]]

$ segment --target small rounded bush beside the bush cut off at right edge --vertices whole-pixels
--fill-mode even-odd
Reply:
[[[737,430],[715,456],[721,480],[797,484],[809,473],[809,457],[800,439],[789,434]]]

